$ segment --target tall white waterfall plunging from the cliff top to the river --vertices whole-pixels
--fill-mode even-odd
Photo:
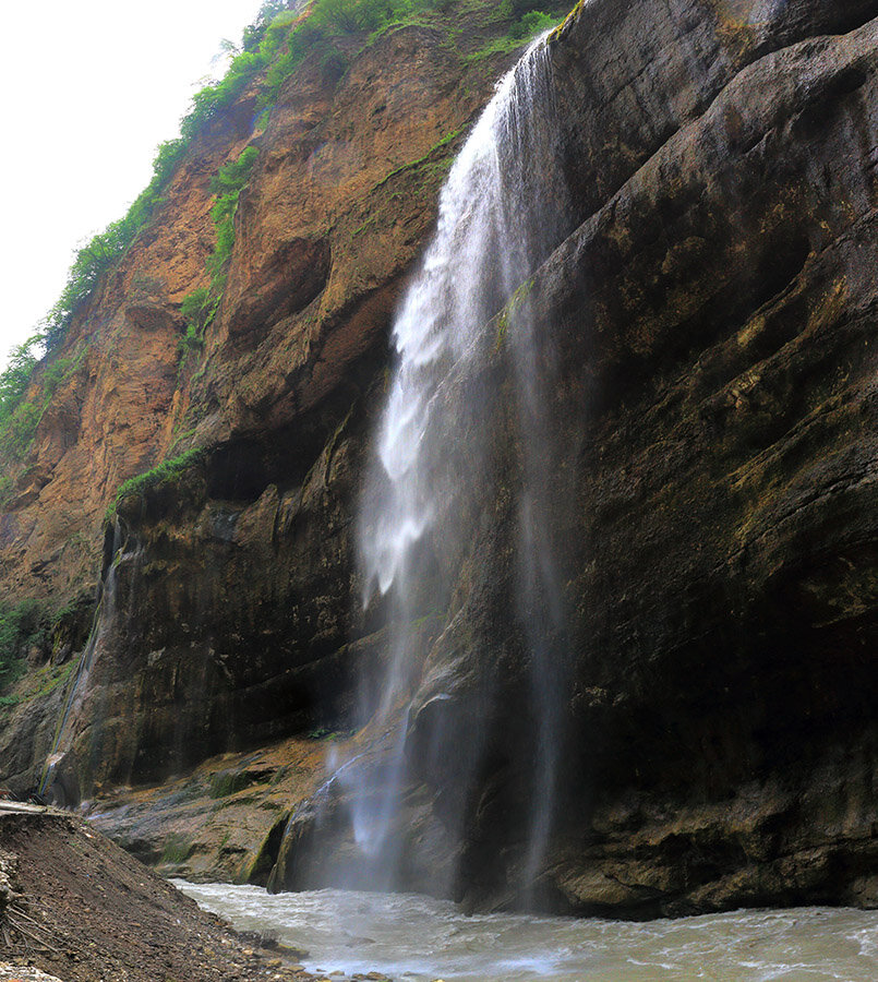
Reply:
[[[512,380],[515,405],[506,412],[518,431],[518,584],[508,604],[527,623],[534,721],[531,804],[521,805],[528,812],[524,896],[554,821],[567,656],[549,530],[554,450],[545,394],[553,368],[528,300],[528,277],[557,244],[565,220],[554,111],[552,63],[540,38],[501,81],[455,160],[435,236],[393,326],[397,362],[359,523],[363,603],[383,604],[388,652],[378,683],[364,687],[362,719],[370,720],[368,739],[384,742],[388,763],[376,777],[351,759],[329,782],[351,801],[371,888],[398,886],[401,853],[412,848],[399,834],[399,809],[410,780],[411,699],[426,656],[422,624],[447,603],[455,562],[471,542],[480,508],[496,493],[488,406],[498,395],[490,381],[478,380],[498,360]],[[472,743],[471,770],[481,752]],[[432,744],[441,761],[442,735]],[[452,840],[462,822],[462,806],[446,804],[443,824]]]

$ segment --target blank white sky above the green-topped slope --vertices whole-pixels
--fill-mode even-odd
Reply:
[[[0,0],[0,368],[121,218],[261,0]]]

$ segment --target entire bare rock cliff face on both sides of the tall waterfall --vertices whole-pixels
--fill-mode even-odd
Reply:
[[[548,493],[574,682],[540,878],[575,910],[878,902],[878,4],[775,7],[593,0],[552,41],[569,220],[526,303],[557,364]],[[306,64],[262,133],[243,99],[81,321],[71,350],[92,344],[2,519],[5,582],[86,582],[118,479],[206,451],[120,504],[122,561],[107,564],[101,648],[59,770],[72,797],[107,800],[231,751],[187,787],[232,807],[284,780],[292,807],[316,786],[302,763],[314,739],[299,756],[244,752],[348,727],[356,672],[381,662],[350,529],[386,331],[459,133],[504,63],[411,26],[341,77]],[[209,177],[248,141],[260,157],[220,315],[203,366],[180,375],[175,304],[201,282]],[[500,357],[483,375],[515,384]],[[502,478],[515,439],[503,400],[488,411],[501,479],[465,554],[446,556],[409,746],[419,821],[468,801],[457,852],[436,862],[459,864],[458,893],[508,901],[532,730],[527,612],[500,613],[515,589]],[[503,688],[490,709],[488,675]],[[22,783],[60,703],[41,698],[0,747]],[[454,734],[442,766],[440,731]],[[155,859],[146,840],[178,823],[191,852],[195,825],[161,797],[123,795],[105,827]],[[286,814],[273,802],[240,843],[246,861],[213,872],[251,875],[262,849],[264,878]],[[308,817],[280,883],[308,878],[294,862]],[[348,848],[344,822],[332,835]]]

